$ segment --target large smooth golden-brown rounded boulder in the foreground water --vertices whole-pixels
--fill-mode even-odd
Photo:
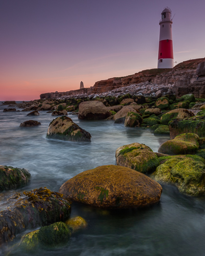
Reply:
[[[59,192],[96,208],[123,209],[159,202],[162,187],[138,171],[105,165],[79,173],[66,181]]]

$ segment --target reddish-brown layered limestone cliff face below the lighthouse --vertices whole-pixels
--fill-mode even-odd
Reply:
[[[205,58],[188,60],[177,64],[173,68],[147,69],[126,77],[113,77],[107,80],[98,81],[90,88],[82,88],[66,92],[43,93],[40,97],[41,99],[52,99],[68,95],[75,96],[77,94],[100,94],[116,88],[143,82],[152,82],[158,85],[174,84],[175,87],[188,86],[196,80],[197,65],[204,61]],[[175,91],[176,93],[180,93],[180,89],[175,89]]]

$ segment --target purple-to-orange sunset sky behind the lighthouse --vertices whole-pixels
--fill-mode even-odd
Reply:
[[[161,13],[174,62],[205,57],[205,0],[0,0],[0,101],[157,68]]]

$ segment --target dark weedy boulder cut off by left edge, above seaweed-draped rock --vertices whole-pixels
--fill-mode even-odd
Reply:
[[[25,169],[0,165],[0,191],[22,187],[30,177],[31,174]]]

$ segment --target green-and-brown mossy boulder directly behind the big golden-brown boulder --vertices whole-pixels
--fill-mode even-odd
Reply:
[[[132,143],[116,150],[117,165],[128,167],[142,173],[155,171],[159,165],[157,155],[148,146]]]

